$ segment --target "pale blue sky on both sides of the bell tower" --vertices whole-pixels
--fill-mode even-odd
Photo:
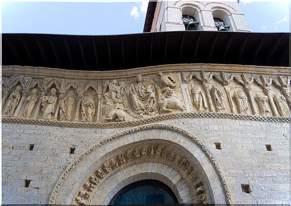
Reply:
[[[289,32],[289,1],[239,5],[252,32]],[[143,2],[2,2],[2,33],[128,34],[143,32]]]

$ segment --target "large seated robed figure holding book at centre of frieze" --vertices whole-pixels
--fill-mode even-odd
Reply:
[[[155,91],[153,85],[148,85],[137,75],[137,82],[130,86],[131,105],[135,114],[144,115],[153,112],[155,102]]]

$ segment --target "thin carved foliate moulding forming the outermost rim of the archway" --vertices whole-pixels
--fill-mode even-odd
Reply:
[[[131,128],[131,129],[125,130],[125,131],[123,131],[121,133],[118,133],[118,134],[115,134],[113,136],[110,136],[107,139],[102,140],[101,142],[93,145],[91,148],[89,148],[83,154],[81,154],[79,157],[77,157],[65,169],[65,171],[61,174],[60,178],[58,179],[58,182],[55,184],[55,187],[54,187],[54,189],[52,191],[52,195],[50,196],[50,199],[49,199],[49,205],[56,204],[55,203],[55,199],[56,199],[56,197],[58,195],[59,190],[62,187],[62,184],[64,183],[65,179],[68,177],[69,173],[78,165],[79,162],[81,162],[84,158],[86,158],[91,152],[95,151],[95,149],[97,149],[98,147],[106,144],[107,142],[110,142],[113,139],[117,139],[119,137],[122,137],[122,136],[125,136],[125,135],[128,135],[128,134],[131,134],[131,133],[135,133],[135,132],[138,132],[138,131],[151,130],[151,129],[172,130],[172,131],[175,131],[177,133],[180,133],[180,134],[188,137],[194,143],[196,143],[202,149],[202,151],[205,153],[205,155],[208,157],[208,159],[211,161],[211,163],[213,164],[213,166],[214,166],[217,174],[219,175],[220,182],[223,185],[223,189],[224,189],[224,192],[225,192],[226,202],[228,204],[231,204],[232,203],[231,194],[230,194],[229,189],[228,189],[228,186],[226,184],[226,180],[225,180],[225,178],[223,176],[222,169],[217,164],[217,161],[215,160],[214,156],[211,154],[210,150],[202,142],[200,142],[199,139],[197,139],[192,133],[187,132],[186,130],[183,130],[183,129],[178,128],[178,127],[174,127],[174,126],[170,126],[170,125],[165,125],[165,124],[151,124],[151,125],[144,125],[144,126],[140,126],[140,127]]]

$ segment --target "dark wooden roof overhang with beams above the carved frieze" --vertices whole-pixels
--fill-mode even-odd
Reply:
[[[121,70],[182,63],[289,66],[290,33],[2,34],[2,65]]]

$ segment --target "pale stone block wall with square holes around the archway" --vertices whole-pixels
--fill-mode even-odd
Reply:
[[[204,143],[223,170],[233,203],[290,204],[289,123],[184,118],[157,123],[185,129]],[[2,124],[2,203],[47,204],[64,169],[119,129]],[[215,143],[220,143],[221,150]],[[33,150],[29,150],[33,144]],[[272,151],[267,151],[271,145]],[[76,148],[75,154],[69,154]],[[25,180],[31,180],[24,187]],[[244,193],[241,184],[250,185]]]

